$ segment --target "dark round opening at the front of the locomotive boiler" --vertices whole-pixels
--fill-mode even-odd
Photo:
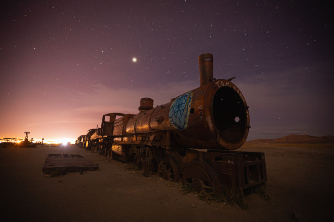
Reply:
[[[245,133],[247,114],[238,92],[230,87],[218,89],[212,107],[213,121],[223,139],[239,142]]]

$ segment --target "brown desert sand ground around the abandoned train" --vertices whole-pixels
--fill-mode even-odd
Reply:
[[[333,221],[334,145],[245,144],[265,152],[270,199],[244,197],[246,209],[184,195],[181,183],[78,148],[0,148],[1,221]],[[48,178],[49,153],[80,154],[99,169]]]

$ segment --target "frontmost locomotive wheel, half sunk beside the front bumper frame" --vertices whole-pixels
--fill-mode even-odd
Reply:
[[[191,163],[183,174],[182,184],[191,185],[198,192],[205,189],[222,195],[221,182],[216,172],[210,164],[205,162]]]

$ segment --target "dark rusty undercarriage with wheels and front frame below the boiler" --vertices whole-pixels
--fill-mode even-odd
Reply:
[[[113,160],[135,163],[146,177],[158,175],[165,180],[182,182],[198,192],[207,190],[218,195],[243,196],[245,191],[267,181],[263,152],[133,146],[115,144],[114,139],[96,139],[87,149]]]

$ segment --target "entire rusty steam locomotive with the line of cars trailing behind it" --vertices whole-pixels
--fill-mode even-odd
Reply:
[[[262,152],[233,151],[246,141],[250,117],[241,91],[231,79],[213,78],[213,56],[199,56],[200,87],[153,107],[140,100],[139,113],[109,113],[91,129],[83,146],[104,156],[132,161],[145,176],[221,194],[267,181]]]

